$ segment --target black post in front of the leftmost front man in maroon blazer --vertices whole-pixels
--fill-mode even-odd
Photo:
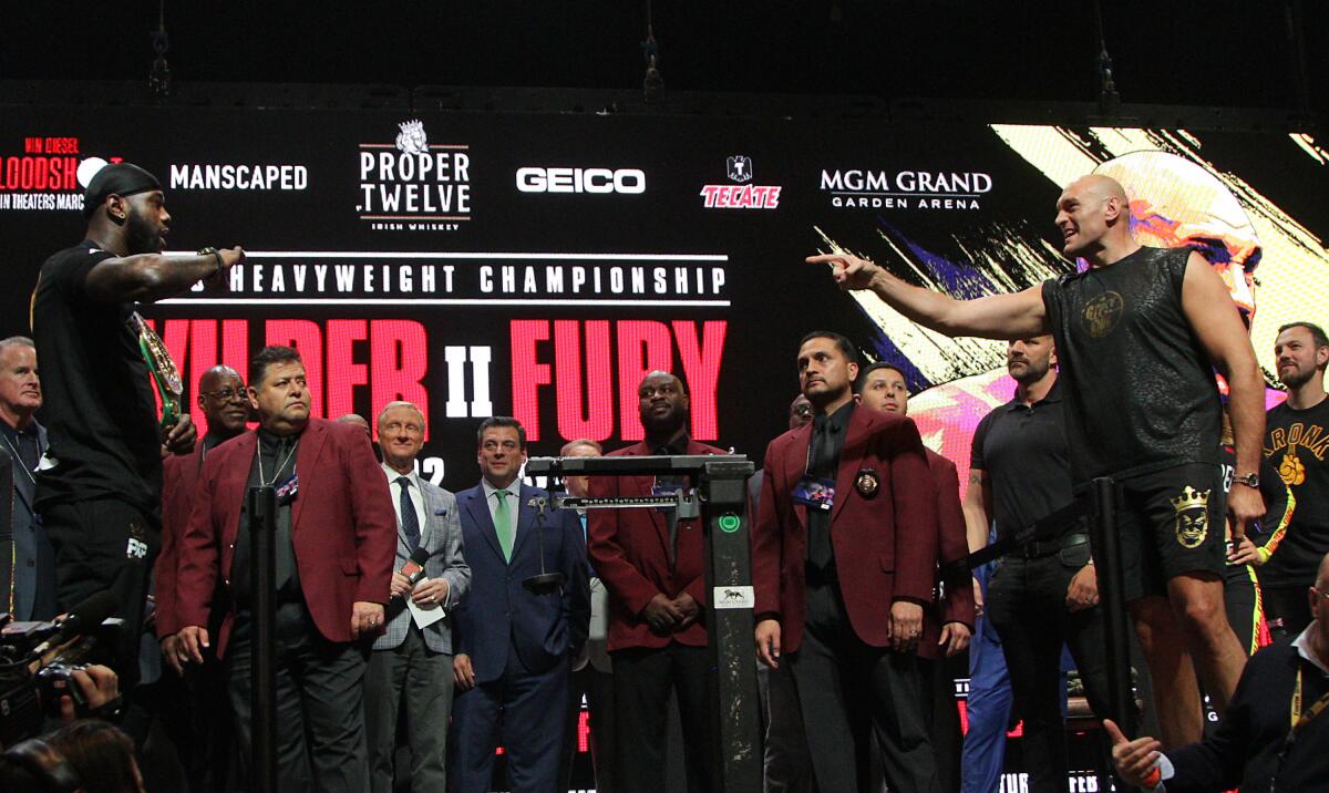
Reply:
[[[276,793],[276,490],[249,490],[250,570],[254,571],[250,646],[250,790]]]

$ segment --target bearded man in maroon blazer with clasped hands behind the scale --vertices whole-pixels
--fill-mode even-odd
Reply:
[[[723,454],[688,437],[682,380],[650,372],[638,387],[646,440],[611,457]],[[666,477],[591,477],[590,494],[650,495]],[[708,701],[702,523],[654,509],[590,510],[590,562],[609,587],[614,663],[614,780],[622,790],[664,789],[670,691],[678,693],[690,793],[714,789],[715,704]]]

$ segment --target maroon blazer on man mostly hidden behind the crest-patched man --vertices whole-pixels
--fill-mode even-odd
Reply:
[[[969,555],[969,539],[965,535],[965,511],[960,506],[960,474],[956,464],[937,454],[928,453],[928,468],[932,470],[933,485],[937,487],[937,562],[948,565]],[[941,579],[946,584],[946,598],[933,603],[924,611],[922,640],[918,655],[926,659],[941,656],[937,640],[941,639],[941,626],[960,622],[974,631],[974,576],[966,567],[961,573],[949,573]]]

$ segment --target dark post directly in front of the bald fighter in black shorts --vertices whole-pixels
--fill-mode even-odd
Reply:
[[[1126,735],[1135,735],[1135,691],[1131,685],[1131,624],[1126,610],[1126,578],[1122,570],[1122,542],[1116,531],[1116,482],[1094,480],[1091,534],[1098,566],[1099,603],[1103,608],[1103,639],[1107,646],[1107,697],[1112,721]]]

